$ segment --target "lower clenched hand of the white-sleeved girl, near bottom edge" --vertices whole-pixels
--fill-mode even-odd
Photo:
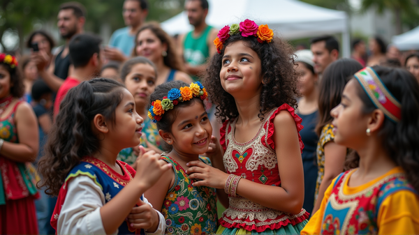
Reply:
[[[134,229],[147,229],[147,232],[156,232],[159,227],[159,215],[152,206],[139,200],[138,206],[133,207],[129,213],[128,222]]]

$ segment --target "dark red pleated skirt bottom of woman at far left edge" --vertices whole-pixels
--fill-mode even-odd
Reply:
[[[0,206],[0,234],[38,234],[33,196],[6,200]]]

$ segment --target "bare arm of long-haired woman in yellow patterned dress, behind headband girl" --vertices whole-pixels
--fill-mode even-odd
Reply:
[[[341,146],[333,141],[325,144],[325,175],[318,187],[318,196],[314,204],[313,213],[320,208],[323,195],[326,188],[329,187],[332,180],[344,171],[344,162],[346,158],[346,146]]]

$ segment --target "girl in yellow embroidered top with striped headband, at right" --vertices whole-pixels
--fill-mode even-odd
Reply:
[[[335,142],[358,168],[339,174],[302,234],[419,234],[419,85],[406,70],[364,68],[332,109]]]

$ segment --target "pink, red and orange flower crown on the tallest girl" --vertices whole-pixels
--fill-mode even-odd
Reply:
[[[231,24],[231,26],[226,25],[223,29],[220,29],[214,40],[216,52],[220,54],[227,38],[230,38],[230,35],[239,32],[242,32],[242,36],[246,38],[249,36],[257,37],[259,43],[270,43],[272,38],[274,38],[274,31],[272,31],[267,24],[260,24],[258,26],[253,20],[244,20],[244,22],[240,22],[240,24]]]

